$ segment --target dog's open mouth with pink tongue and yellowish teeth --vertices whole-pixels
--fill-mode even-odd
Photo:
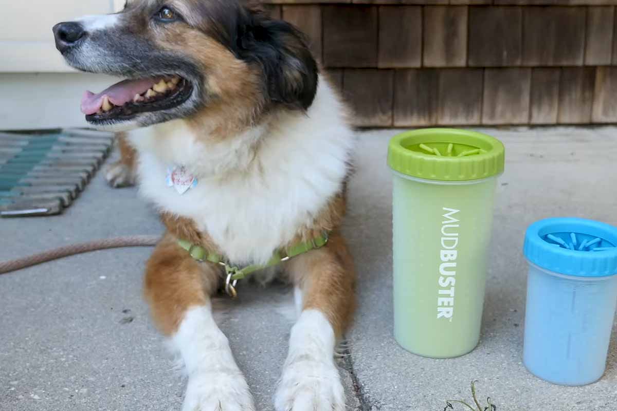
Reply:
[[[90,123],[129,120],[138,113],[178,107],[192,91],[191,83],[180,76],[124,80],[98,94],[86,91],[81,112]]]

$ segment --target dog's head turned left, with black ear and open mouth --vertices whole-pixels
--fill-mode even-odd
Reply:
[[[86,92],[81,110],[95,126],[149,126],[247,100],[252,116],[305,110],[317,90],[301,33],[237,0],[128,0],[118,14],[59,23],[54,36],[72,67],[125,78]]]

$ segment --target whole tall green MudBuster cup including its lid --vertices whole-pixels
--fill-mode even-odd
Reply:
[[[421,129],[389,145],[394,173],[394,336],[425,357],[478,345],[503,144],[486,134]]]

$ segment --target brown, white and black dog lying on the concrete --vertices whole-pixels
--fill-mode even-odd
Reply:
[[[136,158],[141,192],[167,227],[145,294],[186,365],[183,410],[254,410],[254,401],[213,320],[221,269],[178,240],[246,266],[324,231],[326,246],[280,266],[300,314],[275,409],[344,410],[333,354],[354,309],[339,230],[353,137],[303,36],[237,0],[129,0],[118,14],[60,23],[54,35],[73,67],[126,78],[86,92],[81,108],[93,126],[134,129],[110,179],[130,181]],[[170,187],[168,168],[197,184],[180,194],[187,187]]]

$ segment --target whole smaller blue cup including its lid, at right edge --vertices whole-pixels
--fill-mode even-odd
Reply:
[[[525,366],[559,385],[599,380],[617,305],[617,228],[579,218],[545,219],[527,230],[524,254]]]

